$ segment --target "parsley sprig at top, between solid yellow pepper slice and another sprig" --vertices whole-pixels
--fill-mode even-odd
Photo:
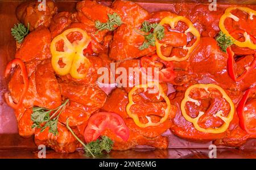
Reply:
[[[109,31],[114,31],[114,25],[120,26],[122,24],[121,17],[117,13],[108,14],[109,19],[106,23],[101,23],[99,20],[96,20],[95,27],[98,31],[102,31],[104,29],[108,29]],[[97,32],[98,32],[97,31]]]

